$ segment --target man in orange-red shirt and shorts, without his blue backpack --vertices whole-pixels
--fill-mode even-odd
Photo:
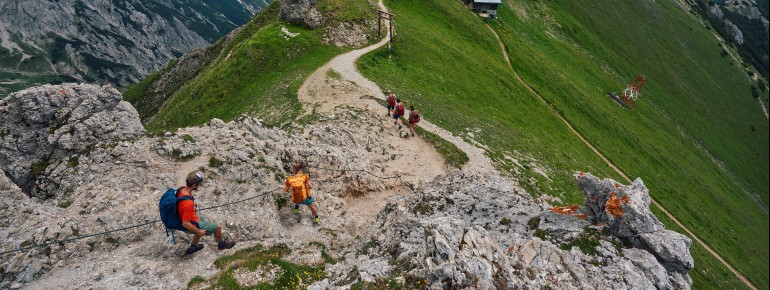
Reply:
[[[193,191],[198,190],[201,184],[203,184],[203,173],[190,173],[187,175],[186,183],[187,186],[180,188],[177,192],[177,198],[185,195],[192,197]],[[207,222],[198,217],[198,214],[195,212],[194,200],[179,201],[177,203],[177,212],[179,213],[179,219],[182,220],[182,226],[187,229],[185,232],[194,235],[190,242],[190,247],[185,252],[186,254],[192,254],[203,249],[203,244],[199,244],[198,241],[204,235],[214,234],[219,250],[230,249],[235,246],[235,242],[226,241],[222,238],[222,228],[218,224]]]

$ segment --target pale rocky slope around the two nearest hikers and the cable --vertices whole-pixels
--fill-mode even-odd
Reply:
[[[318,167],[392,176],[398,168],[386,164],[401,157],[384,154],[388,144],[366,134],[386,134],[372,129],[384,122],[382,118],[347,108],[319,118],[320,124],[292,133],[266,128],[252,118],[229,123],[213,119],[205,126],[181,128],[164,136],[103,142],[77,154],[77,165],[70,167],[63,162],[47,169],[43,173],[46,180],[58,180],[61,188],[73,191],[44,201],[29,198],[12,185],[7,193],[0,183],[0,251],[157,219],[162,192],[180,185],[191,171],[201,170],[206,176],[203,188],[195,195],[199,207],[253,197],[282,186],[288,174],[286,162],[292,160],[311,165],[307,172],[314,183],[312,194],[322,215],[321,227],[333,231],[319,231],[309,220],[298,223],[290,202],[283,200],[279,206],[280,197],[288,197],[280,191],[201,211],[200,216],[224,227],[224,235],[239,242],[237,247],[285,243],[302,248],[308,241],[334,240],[340,249],[352,249],[351,244],[366,233],[370,224],[350,210],[343,198],[391,190],[396,180],[384,183],[359,171]],[[212,157],[218,162],[213,162]],[[408,175],[400,180],[420,184],[418,178]],[[309,217],[305,215],[308,210],[302,210],[302,215]],[[193,258],[180,258],[178,254],[187,246],[189,237],[177,232],[176,239],[178,243],[172,244],[162,225],[155,223],[3,255],[0,289],[25,285],[33,289],[184,288],[196,275],[214,275],[217,270],[211,262],[232,253],[216,251],[213,238],[204,237],[204,251]],[[375,267],[381,266],[383,260],[369,262],[361,260],[370,266],[362,265],[360,269],[375,275]],[[384,262],[387,264],[387,260]],[[186,265],[184,271],[179,269],[182,264]],[[71,281],[71,277],[79,278]]]

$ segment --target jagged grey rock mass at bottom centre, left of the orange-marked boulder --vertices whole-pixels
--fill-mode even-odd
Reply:
[[[544,211],[521,193],[495,176],[438,178],[380,212],[369,252],[390,256],[369,258],[406,260],[431,289],[689,288],[686,271],[667,270],[658,252],[619,246],[612,233],[591,237],[589,253],[569,246],[585,238],[586,219]],[[536,228],[554,232],[542,240]]]

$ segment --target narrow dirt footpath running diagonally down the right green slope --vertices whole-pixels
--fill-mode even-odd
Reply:
[[[492,34],[495,36],[495,38],[497,38],[497,41],[498,41],[498,43],[500,44],[500,49],[501,49],[501,50],[502,50],[502,52],[503,52],[503,57],[505,58],[505,61],[508,63],[508,66],[509,66],[509,67],[511,68],[511,70],[513,71],[513,74],[516,76],[516,79],[517,79],[517,80],[518,80],[518,81],[519,81],[521,84],[523,84],[523,85],[524,85],[524,87],[526,87],[526,88],[527,88],[527,90],[528,90],[530,93],[532,93],[533,95],[537,96],[537,97],[538,97],[538,99],[540,99],[540,101],[541,101],[541,102],[543,102],[543,103],[544,103],[546,106],[548,106],[548,108],[551,110],[551,112],[553,112],[553,113],[554,113],[554,115],[556,115],[557,117],[559,117],[559,119],[561,119],[561,121],[562,121],[562,122],[564,122],[564,124],[565,124],[565,125],[567,125],[567,127],[569,128],[569,130],[570,130],[570,131],[572,131],[572,133],[574,133],[576,136],[578,136],[578,138],[580,138],[580,140],[582,140],[582,141],[583,141],[583,143],[585,143],[585,144],[586,144],[586,146],[588,146],[588,148],[591,148],[591,150],[592,150],[594,153],[596,153],[596,155],[597,155],[597,156],[599,156],[599,158],[601,158],[602,160],[604,160],[604,162],[605,162],[605,163],[607,163],[607,165],[608,165],[610,168],[612,168],[612,169],[613,169],[615,172],[617,172],[617,173],[618,173],[618,174],[619,174],[621,177],[623,177],[623,179],[625,179],[625,180],[626,180],[628,183],[631,183],[631,182],[632,182],[632,180],[631,180],[630,178],[628,178],[628,176],[626,176],[626,174],[625,174],[625,173],[623,173],[623,171],[621,171],[621,170],[620,170],[620,169],[619,169],[617,166],[615,166],[615,164],[612,164],[612,162],[610,162],[610,160],[609,160],[609,159],[607,159],[607,157],[605,157],[605,156],[604,156],[604,155],[603,155],[601,152],[599,152],[599,150],[598,150],[598,149],[596,149],[596,147],[594,147],[594,146],[593,146],[593,145],[592,145],[590,142],[588,142],[588,140],[586,140],[586,139],[583,137],[583,135],[581,135],[581,134],[580,134],[580,133],[579,133],[577,130],[575,130],[575,128],[574,128],[574,127],[572,127],[572,124],[570,124],[570,123],[569,123],[569,121],[567,121],[567,119],[565,119],[565,118],[564,118],[564,117],[563,117],[561,114],[559,114],[559,112],[557,112],[557,111],[556,111],[556,109],[554,109],[553,105],[549,104],[549,103],[548,103],[548,102],[545,100],[545,98],[543,98],[543,96],[541,96],[540,94],[538,94],[538,93],[537,93],[537,92],[536,92],[534,89],[532,89],[532,87],[529,85],[529,83],[527,83],[526,81],[524,81],[524,79],[522,79],[522,78],[519,76],[519,74],[518,74],[518,73],[516,72],[516,70],[513,68],[513,65],[511,64],[511,60],[510,60],[510,58],[508,58],[508,53],[505,51],[505,46],[503,45],[503,42],[502,42],[502,40],[500,40],[500,36],[499,36],[499,35],[497,35],[497,32],[496,32],[494,29],[492,29],[492,27],[491,27],[491,26],[489,26],[488,24],[487,24],[487,28],[489,28],[489,30],[492,32]],[[761,104],[761,100],[760,100],[760,104]],[[764,105],[763,105],[763,108],[764,108]],[[650,197],[652,197],[652,196],[650,196]],[[748,279],[746,279],[746,277],[745,277],[745,276],[743,276],[743,274],[741,274],[740,272],[738,272],[738,270],[736,270],[736,269],[735,269],[735,268],[733,268],[733,267],[732,267],[730,264],[728,264],[728,263],[727,263],[727,261],[725,261],[725,260],[724,260],[724,259],[723,259],[721,256],[719,256],[719,254],[717,254],[717,252],[715,252],[714,250],[712,250],[712,249],[711,249],[711,247],[709,247],[709,246],[708,246],[706,243],[704,243],[704,242],[703,242],[703,241],[702,241],[700,238],[698,238],[698,236],[696,236],[696,235],[695,235],[695,234],[694,234],[694,233],[693,233],[693,232],[692,232],[692,231],[691,231],[689,228],[687,228],[687,227],[686,227],[684,224],[682,224],[682,222],[680,222],[678,219],[676,219],[676,217],[674,217],[674,216],[673,216],[671,213],[669,213],[669,212],[668,212],[668,210],[666,210],[666,208],[664,208],[664,207],[663,207],[663,206],[662,206],[662,205],[661,205],[661,204],[660,204],[660,203],[659,203],[659,202],[658,202],[658,201],[657,201],[657,200],[656,200],[654,197],[652,198],[652,203],[653,203],[653,204],[655,204],[655,206],[656,206],[656,207],[658,207],[658,209],[660,209],[660,210],[661,210],[663,213],[665,213],[665,214],[666,214],[666,216],[668,216],[668,218],[669,218],[669,219],[671,219],[672,221],[674,221],[674,223],[676,223],[676,224],[677,224],[677,225],[678,225],[680,228],[684,229],[684,231],[685,231],[685,232],[687,232],[687,234],[688,234],[690,237],[692,237],[692,238],[693,238],[693,239],[694,239],[696,242],[698,242],[698,244],[700,244],[700,245],[701,245],[703,248],[705,248],[705,249],[706,249],[706,251],[708,251],[708,252],[709,252],[709,253],[710,253],[712,256],[714,256],[714,258],[716,258],[717,260],[719,260],[719,262],[720,262],[720,263],[722,263],[723,265],[725,265],[725,267],[727,267],[727,269],[730,269],[730,271],[732,271],[732,272],[733,272],[733,274],[735,274],[735,276],[736,276],[736,277],[738,277],[738,279],[740,279],[740,280],[741,280],[741,281],[742,281],[744,284],[746,284],[746,286],[748,286],[749,288],[751,288],[751,289],[754,289],[754,290],[756,290],[756,289],[757,289],[757,287],[756,287],[756,286],[754,286],[754,284],[752,284],[751,282],[749,282],[749,280],[748,280]]]

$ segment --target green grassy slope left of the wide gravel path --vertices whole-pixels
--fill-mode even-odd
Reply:
[[[200,125],[211,118],[229,121],[244,113],[274,126],[294,121],[302,110],[297,99],[300,85],[345,49],[323,44],[320,28],[307,29],[281,21],[278,5],[275,2],[265,8],[231,40],[208,48],[219,51],[218,56],[171,92],[173,96],[159,110],[157,104],[142,106],[148,83],[156,75],[129,88],[126,99],[139,104],[138,108],[147,107],[144,113],[152,116],[145,127],[151,132],[174,130]],[[373,8],[364,0],[320,0],[318,7],[328,23],[375,17]],[[283,28],[297,35],[287,36]]]

